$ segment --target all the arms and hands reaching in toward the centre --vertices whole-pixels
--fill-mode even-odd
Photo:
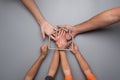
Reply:
[[[70,25],[58,25],[58,30],[56,27],[52,26],[41,14],[35,0],[21,0],[24,6],[32,13],[34,18],[36,19],[37,23],[41,28],[42,38],[45,39],[46,35],[50,36],[50,38],[55,42],[57,48],[65,49],[66,47],[70,49],[70,51],[76,57],[80,68],[82,69],[83,73],[85,74],[87,80],[96,80],[96,76],[92,72],[89,64],[84,59],[82,54],[80,53],[78,46],[71,42],[67,45],[67,42],[75,37],[79,33],[84,33],[96,29],[101,29],[107,27],[111,24],[117,23],[120,21],[120,7],[112,8],[106,11],[103,11],[92,18],[84,21],[83,23],[76,24],[74,26]],[[65,30],[71,31],[71,35],[69,35]],[[35,75],[37,74],[39,67],[43,60],[45,59],[48,46],[42,45],[41,46],[41,54],[35,63],[31,66],[29,71],[26,73],[24,80],[33,80]],[[59,54],[60,55],[59,55]],[[70,71],[70,67],[67,61],[66,53],[63,50],[55,50],[53,55],[48,74],[45,80],[54,80],[55,73],[58,68],[59,58],[61,60],[61,65],[63,69],[63,73],[65,75],[65,80],[73,80],[72,73]],[[80,79],[79,79],[80,80]]]

